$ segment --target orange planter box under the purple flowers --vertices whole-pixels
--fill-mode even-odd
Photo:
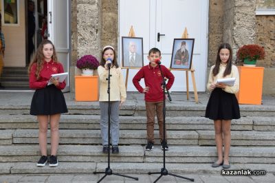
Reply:
[[[98,76],[74,76],[76,101],[98,101]]]

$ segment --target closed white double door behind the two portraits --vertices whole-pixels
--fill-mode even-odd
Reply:
[[[133,25],[135,36],[143,37],[144,65],[151,47],[162,52],[162,64],[170,67],[173,40],[180,39],[184,28],[189,38],[195,39],[192,63],[198,92],[205,91],[208,45],[208,0],[120,0],[120,50],[121,36],[128,36]],[[165,34],[157,41],[157,33]],[[121,51],[119,60],[121,61]],[[128,91],[136,91],[131,80],[137,70],[129,72]],[[186,73],[172,71],[175,83],[170,89],[174,92],[186,91]],[[193,91],[189,77],[189,89]]]

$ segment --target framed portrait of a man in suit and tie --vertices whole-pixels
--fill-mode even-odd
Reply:
[[[143,39],[122,36],[122,67],[143,66]]]

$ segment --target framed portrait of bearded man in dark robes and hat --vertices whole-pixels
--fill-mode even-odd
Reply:
[[[190,69],[195,39],[174,39],[171,69]]]

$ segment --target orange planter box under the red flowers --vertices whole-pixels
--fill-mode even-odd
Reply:
[[[239,104],[261,105],[264,67],[239,66],[240,90],[236,94]]]

